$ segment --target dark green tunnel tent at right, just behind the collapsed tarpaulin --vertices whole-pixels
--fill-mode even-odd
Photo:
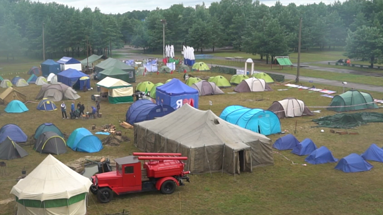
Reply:
[[[363,109],[376,109],[378,105],[372,103],[374,99],[372,95],[367,92],[359,92],[357,90],[349,90],[340,95],[334,96],[327,110],[335,112],[345,112]],[[339,107],[339,106],[351,106],[351,107]]]

